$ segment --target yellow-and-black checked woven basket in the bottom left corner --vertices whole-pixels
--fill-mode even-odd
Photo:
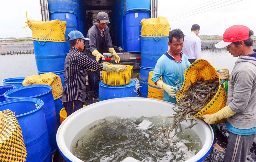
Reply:
[[[24,162],[27,150],[20,125],[14,113],[0,111],[0,162]]]

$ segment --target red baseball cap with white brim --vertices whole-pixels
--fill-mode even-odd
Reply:
[[[216,48],[224,48],[233,42],[239,42],[249,39],[250,29],[243,25],[233,25],[226,29],[223,34],[223,40],[218,42]]]

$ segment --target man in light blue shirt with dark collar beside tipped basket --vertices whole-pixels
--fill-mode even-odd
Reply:
[[[176,89],[180,89],[183,85],[183,74],[190,63],[187,56],[181,53],[184,40],[181,29],[171,31],[168,38],[170,49],[157,60],[151,80],[163,89],[164,101],[177,103]],[[161,80],[161,76],[163,80]]]

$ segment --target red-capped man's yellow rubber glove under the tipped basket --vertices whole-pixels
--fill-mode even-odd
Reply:
[[[223,107],[221,110],[219,110],[217,113],[214,114],[206,114],[202,117],[204,118],[204,121],[208,124],[213,124],[217,120],[226,119],[230,116],[235,115],[236,112],[233,112],[229,106]]]

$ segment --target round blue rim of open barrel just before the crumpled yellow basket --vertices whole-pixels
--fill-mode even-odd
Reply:
[[[44,93],[40,93],[38,95],[33,95],[33,96],[27,96],[27,97],[12,97],[11,94],[12,93],[15,93],[15,92],[18,92],[18,91],[23,91],[23,90],[26,90],[26,89],[32,89],[32,88],[40,88],[40,87],[43,87],[43,88],[48,88],[47,92],[44,92]],[[6,91],[4,93],[4,96],[8,99],[19,99],[19,98],[36,98],[38,96],[42,96],[42,95],[46,95],[48,94],[49,92],[52,91],[52,87],[51,86],[48,86],[48,85],[28,85],[28,86],[22,86],[22,87],[17,87],[17,88],[14,88],[14,89],[10,89],[8,91]]]

